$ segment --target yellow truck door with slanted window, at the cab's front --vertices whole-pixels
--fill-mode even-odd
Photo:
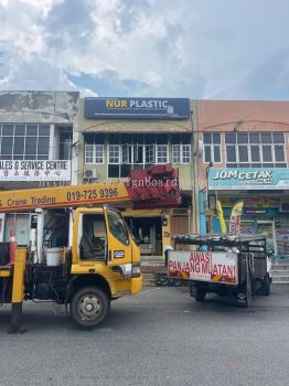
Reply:
[[[121,215],[106,211],[108,266],[131,264],[131,242]]]

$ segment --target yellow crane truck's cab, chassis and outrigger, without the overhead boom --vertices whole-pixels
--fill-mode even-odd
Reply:
[[[72,247],[57,248],[56,258],[49,253],[35,261],[30,248],[18,248],[13,264],[2,261],[1,300],[12,303],[14,330],[23,300],[65,304],[76,324],[94,328],[107,317],[111,300],[141,290],[139,247],[117,211],[76,208]]]

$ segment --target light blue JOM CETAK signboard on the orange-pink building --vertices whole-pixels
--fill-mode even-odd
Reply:
[[[208,189],[231,190],[289,190],[288,168],[211,168]]]

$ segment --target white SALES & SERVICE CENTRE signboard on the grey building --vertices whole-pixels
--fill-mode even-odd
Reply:
[[[71,161],[0,160],[0,181],[71,181]]]

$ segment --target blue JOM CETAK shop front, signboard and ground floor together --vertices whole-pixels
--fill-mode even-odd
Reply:
[[[211,168],[207,178],[208,196],[222,204],[228,226],[232,208],[244,201],[240,232],[266,233],[267,248],[276,255],[289,256],[289,169],[221,169]],[[213,216],[213,232],[220,221]]]

